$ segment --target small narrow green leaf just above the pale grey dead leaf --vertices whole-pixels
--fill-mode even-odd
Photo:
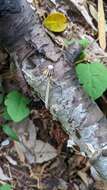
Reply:
[[[19,141],[19,138],[15,131],[13,131],[12,128],[10,128],[8,125],[2,125],[3,132],[8,135],[12,140]]]

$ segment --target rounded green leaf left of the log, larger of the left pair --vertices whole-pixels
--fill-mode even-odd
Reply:
[[[7,112],[15,122],[19,122],[29,115],[28,103],[28,98],[24,97],[18,91],[10,92],[5,98]]]

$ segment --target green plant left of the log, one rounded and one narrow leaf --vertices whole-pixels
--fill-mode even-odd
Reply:
[[[19,141],[19,137],[16,132],[11,127],[9,127],[8,121],[13,120],[14,122],[20,122],[26,118],[30,113],[30,110],[27,107],[29,102],[29,99],[23,96],[17,90],[11,91],[5,97],[5,107],[3,107],[4,111],[2,113],[2,117],[4,119],[4,123],[6,124],[3,124],[1,127],[3,132],[12,140]]]

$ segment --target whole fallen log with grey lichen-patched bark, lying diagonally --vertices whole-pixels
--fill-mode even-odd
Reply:
[[[73,63],[81,47],[73,44],[62,52],[46,34],[37,13],[34,14],[25,0],[21,0],[20,5],[23,7],[20,13],[10,14],[8,19],[6,15],[0,18],[0,26],[3,26],[0,27],[0,44],[14,52],[26,81],[44,102],[48,83],[44,73],[49,65],[53,66],[48,102],[53,119],[61,122],[88,157],[92,156],[88,144],[94,147],[98,154],[92,164],[107,180],[107,155],[102,152],[107,143],[107,120],[75,76]]]

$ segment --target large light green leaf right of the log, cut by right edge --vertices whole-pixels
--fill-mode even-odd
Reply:
[[[101,63],[79,64],[76,73],[85,91],[92,99],[99,98],[107,89],[107,68]]]

